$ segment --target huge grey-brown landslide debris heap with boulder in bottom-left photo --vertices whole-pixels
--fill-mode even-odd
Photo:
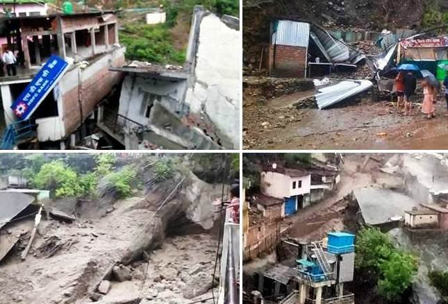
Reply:
[[[43,214],[25,260],[21,249],[34,219],[9,223],[5,231],[11,235],[25,232],[0,261],[0,304],[174,304],[210,298],[217,248],[210,233],[216,216],[210,202],[220,197],[222,187],[184,174],[185,184],[157,217],[160,202],[180,176],[151,183],[143,197],[78,201],[74,221]],[[14,280],[3,280],[10,277]]]

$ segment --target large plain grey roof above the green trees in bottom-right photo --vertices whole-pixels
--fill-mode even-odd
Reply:
[[[406,211],[419,206],[410,196],[390,189],[362,188],[353,193],[365,223],[370,225],[388,223],[392,217],[404,217]]]

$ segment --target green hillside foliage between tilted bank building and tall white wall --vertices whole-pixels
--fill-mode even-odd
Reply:
[[[129,60],[160,64],[185,62],[185,51],[174,49],[166,24],[150,25],[142,22],[126,24],[119,39],[126,46],[126,58]]]

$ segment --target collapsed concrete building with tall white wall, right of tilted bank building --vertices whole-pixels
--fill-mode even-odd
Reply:
[[[131,62],[119,103],[103,103],[99,127],[126,149],[237,149],[239,20],[194,9],[183,67]],[[224,59],[224,60],[223,60]]]

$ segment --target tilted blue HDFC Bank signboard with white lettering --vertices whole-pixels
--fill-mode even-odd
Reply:
[[[68,63],[58,56],[51,56],[40,69],[33,81],[28,84],[24,92],[20,94],[11,109],[19,120],[31,117],[45,97],[53,90],[60,78],[68,69]]]

